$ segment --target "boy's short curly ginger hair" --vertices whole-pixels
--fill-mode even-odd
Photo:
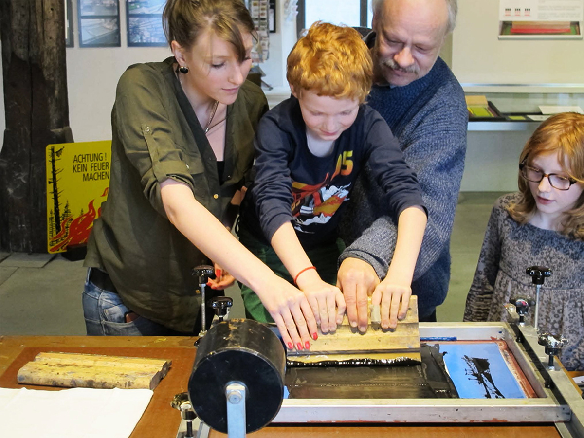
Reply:
[[[316,22],[288,55],[286,79],[296,93],[310,90],[363,103],[373,82],[373,62],[352,27]]]

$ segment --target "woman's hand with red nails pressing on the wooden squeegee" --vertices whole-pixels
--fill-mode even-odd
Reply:
[[[262,291],[256,291],[262,304],[276,323],[288,349],[310,349],[311,334],[317,333],[317,322],[304,293],[276,274],[270,276]]]

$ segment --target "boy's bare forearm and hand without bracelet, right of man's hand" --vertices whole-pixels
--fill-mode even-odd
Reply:
[[[426,211],[408,207],[399,215],[394,257],[385,279],[373,291],[371,304],[381,304],[381,326],[395,328],[408,312],[413,270],[426,228]],[[401,306],[399,305],[401,303]]]

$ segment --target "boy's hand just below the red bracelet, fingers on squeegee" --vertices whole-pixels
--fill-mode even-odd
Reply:
[[[314,269],[303,272],[297,284],[307,297],[321,332],[336,331],[336,326],[343,322],[345,315],[345,299],[340,289],[322,281]]]

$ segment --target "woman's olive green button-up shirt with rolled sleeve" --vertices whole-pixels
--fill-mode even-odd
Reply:
[[[220,185],[214,152],[173,62],[131,65],[120,78],[112,110],[109,194],[93,224],[85,266],[109,273],[124,304],[137,314],[191,332],[200,310],[191,270],[209,260],[166,217],[160,183],[172,178],[187,184],[222,220],[248,178],[253,137],[267,101],[246,81],[228,106]]]

